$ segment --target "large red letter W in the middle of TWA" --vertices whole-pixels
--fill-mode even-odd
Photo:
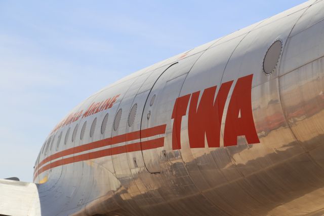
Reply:
[[[219,147],[220,126],[226,98],[233,81],[223,83],[215,98],[217,86],[205,89],[197,107],[199,93],[192,93],[188,114],[190,148],[204,148],[205,134],[210,148]]]

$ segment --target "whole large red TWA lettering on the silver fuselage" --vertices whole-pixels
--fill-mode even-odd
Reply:
[[[236,146],[237,136],[245,136],[249,144],[260,143],[252,115],[253,74],[237,80],[229,101],[224,129],[224,147]],[[209,148],[220,147],[220,129],[225,102],[233,81],[223,83],[216,95],[217,86],[176,99],[172,119],[172,148],[181,149],[182,117],[188,111],[188,137],[190,148],[205,148],[205,134]],[[190,100],[190,103],[189,103]]]

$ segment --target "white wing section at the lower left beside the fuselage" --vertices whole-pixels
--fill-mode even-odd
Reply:
[[[0,215],[41,215],[36,184],[0,179]]]

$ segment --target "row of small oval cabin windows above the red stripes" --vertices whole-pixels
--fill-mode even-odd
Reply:
[[[155,98],[155,95],[153,96],[153,98]],[[152,98],[152,99],[153,99]],[[154,99],[153,99],[154,101]],[[152,104],[152,101],[150,103],[150,105]],[[137,111],[137,104],[135,103],[131,109],[131,112],[129,114],[129,117],[128,117],[128,125],[130,127],[132,127],[133,123],[134,123],[134,120],[135,120],[135,116],[136,116],[136,111]],[[120,123],[120,119],[121,119],[121,114],[122,114],[122,110],[119,109],[116,116],[115,116],[115,119],[114,119],[114,122],[113,122],[113,129],[116,131],[119,127],[119,123]],[[107,122],[108,122],[108,116],[109,114],[106,114],[105,117],[103,118],[102,120],[102,124],[101,124],[101,134],[104,134],[105,130],[106,130],[106,126],[107,126]],[[93,137],[94,133],[95,133],[95,129],[96,129],[96,124],[97,124],[97,118],[95,118],[91,124],[91,128],[90,128],[90,137]],[[86,127],[87,127],[87,121],[84,122],[82,128],[81,128],[81,132],[80,132],[80,140],[83,140],[84,138],[84,135],[85,135],[85,131],[86,131]],[[69,134],[70,134],[70,129],[71,128],[68,128],[66,133],[65,133],[65,137],[64,137],[64,145],[67,144],[68,142],[68,137],[69,137]],[[78,124],[75,125],[74,127],[74,130],[73,130],[73,133],[72,133],[72,142],[75,140],[75,137],[76,137],[76,133],[77,133],[77,130],[78,130]],[[62,138],[62,131],[60,132],[60,135],[58,136],[57,138],[57,142],[56,142],[56,150],[59,149],[60,147],[60,142],[61,142],[61,138]],[[52,147],[53,147],[53,142],[54,142],[54,139],[55,139],[55,135],[53,137],[50,137],[47,141],[45,141],[44,143],[44,146],[43,146],[43,150],[42,150],[42,154],[44,153],[45,151],[45,155],[47,155],[48,153],[48,150],[50,149],[52,151]],[[51,143],[51,145],[50,145]]]

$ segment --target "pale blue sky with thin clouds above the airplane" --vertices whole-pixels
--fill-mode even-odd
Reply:
[[[303,2],[0,0],[0,178],[31,182],[48,133],[99,89]]]

